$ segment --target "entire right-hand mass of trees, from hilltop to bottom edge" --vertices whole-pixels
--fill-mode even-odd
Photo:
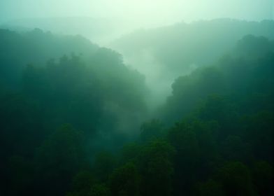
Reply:
[[[97,182],[109,195],[272,195],[273,49],[245,36],[235,54],[175,80],[161,120],[106,159],[115,168]]]

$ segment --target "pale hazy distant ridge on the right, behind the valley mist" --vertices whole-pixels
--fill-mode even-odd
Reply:
[[[130,63],[147,76],[146,66],[157,64],[157,69],[174,79],[181,73],[189,73],[193,66],[214,62],[236,45],[247,34],[274,38],[274,21],[247,22],[243,20],[216,19],[156,29],[140,29],[121,36],[111,47],[120,51]],[[138,66],[138,60],[149,56],[153,62]],[[166,78],[160,75],[159,78]],[[153,76],[153,75],[152,75]],[[158,79],[158,78],[157,78]]]

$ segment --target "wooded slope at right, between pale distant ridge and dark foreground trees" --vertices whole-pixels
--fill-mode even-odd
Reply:
[[[225,97],[225,102],[231,100],[233,106],[230,109],[237,108],[240,113],[273,111],[273,52],[274,41],[251,35],[243,37],[233,50],[212,66],[201,67],[175,79],[172,94],[161,111],[163,119],[166,123],[168,120],[175,123],[205,104],[205,99],[212,94]],[[219,117],[229,115],[228,109],[219,113]]]

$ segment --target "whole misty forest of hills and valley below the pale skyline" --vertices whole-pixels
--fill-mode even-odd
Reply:
[[[0,195],[273,195],[273,100],[273,20],[2,27]]]

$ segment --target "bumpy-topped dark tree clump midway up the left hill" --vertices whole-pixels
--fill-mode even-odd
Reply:
[[[87,132],[98,126],[100,94],[94,94],[96,81],[90,78],[80,58],[62,57],[45,68],[28,66],[23,73],[24,93],[43,107],[53,125],[72,123]],[[92,120],[90,120],[92,119]]]

